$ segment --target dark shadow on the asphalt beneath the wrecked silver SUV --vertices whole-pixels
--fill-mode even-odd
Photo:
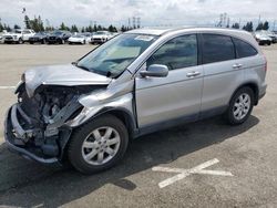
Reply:
[[[143,136],[131,143],[123,162],[104,173],[84,176],[72,168],[43,166],[23,159],[0,146],[0,205],[58,207],[82,198],[106,184],[127,191],[136,185],[127,176],[160,164],[172,163],[209,145],[239,135],[259,123],[255,116],[239,126],[223,124],[219,117],[179,125]]]

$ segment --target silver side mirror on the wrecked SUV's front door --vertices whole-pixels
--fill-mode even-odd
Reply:
[[[168,74],[168,67],[162,64],[150,65],[146,70],[140,72],[141,76],[165,77]]]

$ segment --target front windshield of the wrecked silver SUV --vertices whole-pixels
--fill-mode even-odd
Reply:
[[[76,66],[116,77],[156,39],[145,34],[117,35],[80,60]]]

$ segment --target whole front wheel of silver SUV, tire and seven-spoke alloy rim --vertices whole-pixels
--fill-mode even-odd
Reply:
[[[93,174],[113,167],[127,148],[125,125],[112,115],[95,118],[76,129],[69,143],[68,156],[75,169]]]

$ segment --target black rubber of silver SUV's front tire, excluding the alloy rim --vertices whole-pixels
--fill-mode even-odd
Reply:
[[[104,164],[101,165],[89,164],[82,156],[83,153],[82,145],[86,139],[86,137],[92,133],[92,131],[104,126],[112,127],[119,133],[120,144],[117,147],[117,152],[115,153],[115,155],[113,155],[113,157],[110,160],[107,160]],[[84,124],[83,126],[74,131],[69,142],[68,157],[72,166],[79,171],[83,174],[94,174],[109,169],[113,167],[116,163],[119,163],[123,158],[126,152],[127,144],[129,144],[129,134],[125,125],[115,116],[104,115]],[[98,154],[95,156],[99,156]]]

